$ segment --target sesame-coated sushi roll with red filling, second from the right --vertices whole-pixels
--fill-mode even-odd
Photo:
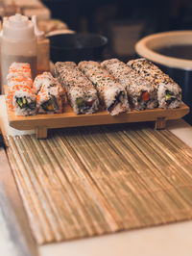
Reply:
[[[133,108],[145,110],[157,107],[156,86],[140,76],[129,65],[118,59],[104,61],[101,65],[127,90]]]

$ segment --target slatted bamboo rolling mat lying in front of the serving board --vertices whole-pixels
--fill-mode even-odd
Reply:
[[[192,149],[167,130],[117,125],[7,140],[39,244],[192,218]]]

